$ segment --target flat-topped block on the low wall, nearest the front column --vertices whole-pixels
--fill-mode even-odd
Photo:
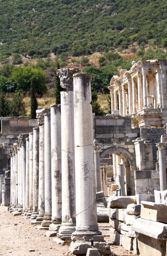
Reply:
[[[136,204],[135,196],[110,196],[108,206],[110,208],[127,208],[128,204]]]

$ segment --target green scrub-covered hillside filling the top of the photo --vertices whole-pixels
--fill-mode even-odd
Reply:
[[[0,0],[1,56],[79,56],[135,42],[167,47],[166,0]]]

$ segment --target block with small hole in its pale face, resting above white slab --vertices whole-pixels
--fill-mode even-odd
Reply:
[[[142,201],[141,218],[167,223],[167,205]]]

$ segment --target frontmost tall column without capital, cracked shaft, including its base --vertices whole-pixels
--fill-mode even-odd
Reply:
[[[86,254],[88,247],[91,247],[89,239],[92,236],[95,240],[96,235],[98,235],[97,247],[99,243],[102,244],[104,237],[99,232],[97,225],[91,76],[89,73],[76,73],[73,78],[77,204],[76,231],[71,236],[70,250],[74,254],[80,254],[81,252]],[[105,243],[102,245],[104,249],[108,250]],[[103,254],[106,254],[105,250]]]

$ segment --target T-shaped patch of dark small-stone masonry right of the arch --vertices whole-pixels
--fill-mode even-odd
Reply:
[[[156,168],[157,151],[156,143],[161,142],[161,135],[165,135],[164,128],[140,128],[140,137],[145,141],[150,141],[153,145],[153,164]]]

